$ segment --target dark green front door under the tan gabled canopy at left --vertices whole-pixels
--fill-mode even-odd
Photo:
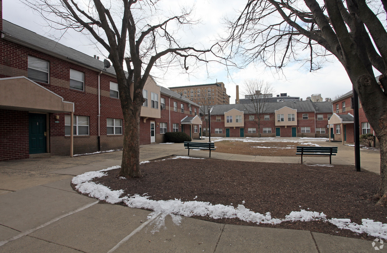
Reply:
[[[46,153],[46,114],[29,114],[29,153]]]

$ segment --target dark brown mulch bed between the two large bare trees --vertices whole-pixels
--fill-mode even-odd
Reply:
[[[141,166],[142,178],[118,179],[118,169],[95,178],[112,190],[125,194],[147,194],[153,200],[181,199],[212,204],[245,207],[273,218],[285,218],[291,211],[324,212],[327,219],[346,218],[361,224],[361,219],[387,223],[387,209],[376,207],[372,196],[378,189],[380,176],[356,172],[354,166],[332,167],[305,164],[257,163],[216,159],[173,159],[152,161]],[[194,199],[197,196],[197,199]],[[232,204],[231,204],[232,203]],[[282,222],[278,225],[253,224],[239,219],[197,219],[270,228],[309,230],[313,232],[374,239],[339,229],[329,222]]]

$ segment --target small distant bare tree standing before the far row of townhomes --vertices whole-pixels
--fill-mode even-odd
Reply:
[[[269,103],[274,92],[275,90],[269,82],[259,79],[248,79],[244,81],[244,91],[242,92],[242,95],[245,95],[245,99],[250,99],[251,103],[243,105],[246,110],[254,114],[253,121],[258,127],[258,137],[261,137],[261,121],[264,120],[264,114],[267,114],[269,110],[267,103]]]

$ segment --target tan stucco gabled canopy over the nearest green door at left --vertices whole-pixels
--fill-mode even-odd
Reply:
[[[0,108],[32,112],[74,112],[74,103],[24,76],[0,78]]]

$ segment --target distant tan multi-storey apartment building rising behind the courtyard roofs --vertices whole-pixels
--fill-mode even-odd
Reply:
[[[179,93],[198,105],[228,105],[230,97],[226,93],[224,83],[209,83],[190,86],[170,87],[171,91]]]

